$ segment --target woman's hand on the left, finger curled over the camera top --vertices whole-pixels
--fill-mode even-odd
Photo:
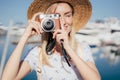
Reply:
[[[33,15],[32,19],[28,20],[28,24],[23,35],[24,37],[29,38],[33,35],[40,35],[41,33],[43,33],[43,30],[40,27],[40,22],[35,21],[36,17],[40,14],[41,13],[38,12]]]

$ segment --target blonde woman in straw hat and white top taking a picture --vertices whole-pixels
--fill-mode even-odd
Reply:
[[[38,16],[43,13],[60,15],[54,31],[45,32],[40,26]],[[34,0],[28,9],[28,26],[5,66],[2,80],[22,79],[31,70],[37,72],[39,80],[100,80],[89,47],[74,40],[74,33],[90,15],[89,0]],[[27,40],[40,34],[42,46],[31,49],[20,63]]]

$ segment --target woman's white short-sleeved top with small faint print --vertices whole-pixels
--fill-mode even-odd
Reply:
[[[77,50],[80,58],[84,61],[94,62],[89,46],[86,43],[81,43],[81,46],[83,48],[82,55]],[[31,69],[35,71],[37,71],[37,67],[39,66],[39,53],[39,47],[34,47],[24,59],[31,66]],[[70,63],[71,67],[69,67],[63,56],[51,54],[49,62],[54,67],[48,65],[42,66],[42,80],[82,80],[76,66]]]

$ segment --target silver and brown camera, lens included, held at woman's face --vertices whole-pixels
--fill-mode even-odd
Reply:
[[[39,20],[42,30],[45,32],[53,32],[56,26],[60,26],[59,14],[41,14]]]

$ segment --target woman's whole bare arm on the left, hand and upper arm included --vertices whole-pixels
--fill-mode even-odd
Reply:
[[[40,23],[35,21],[36,16],[41,13],[36,13],[31,20],[28,21],[28,25],[25,29],[24,34],[22,35],[18,45],[11,54],[2,74],[2,80],[14,80],[15,78],[21,78],[21,75],[24,76],[30,71],[30,66],[22,62],[20,65],[20,58],[27,40],[32,35],[40,35],[42,29],[40,28]],[[25,70],[25,71],[24,71]]]

